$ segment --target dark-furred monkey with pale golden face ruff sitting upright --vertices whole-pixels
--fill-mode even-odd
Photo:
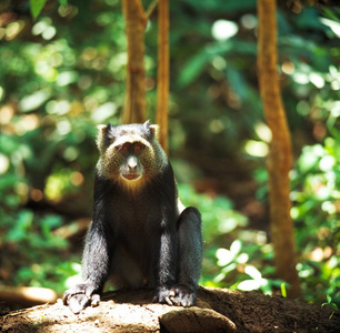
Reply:
[[[63,294],[73,313],[114,289],[147,287],[153,302],[191,306],[202,265],[201,215],[178,196],[158,125],[99,125],[93,215],[83,255],[82,283]]]

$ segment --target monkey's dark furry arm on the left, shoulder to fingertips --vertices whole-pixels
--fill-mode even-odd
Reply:
[[[110,198],[106,181],[96,175],[93,221],[90,225],[82,256],[83,282],[69,289],[63,294],[63,303],[73,313],[79,313],[88,304],[100,301],[108,278],[113,252],[113,233],[106,213],[107,200]]]

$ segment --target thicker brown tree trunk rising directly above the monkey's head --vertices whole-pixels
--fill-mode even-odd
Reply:
[[[128,39],[127,90],[123,123],[146,121],[144,31],[147,16],[140,0],[123,0]]]

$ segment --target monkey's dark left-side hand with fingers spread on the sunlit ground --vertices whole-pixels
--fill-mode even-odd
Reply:
[[[69,305],[70,310],[78,314],[90,304],[91,306],[97,306],[99,304],[100,295],[93,292],[94,286],[92,284],[77,284],[63,293],[63,304]]]

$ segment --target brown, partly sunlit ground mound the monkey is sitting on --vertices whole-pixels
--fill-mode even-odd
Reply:
[[[152,303],[148,290],[106,293],[74,315],[61,302],[0,316],[0,332],[340,332],[340,312],[260,292],[200,287],[192,307]]]

